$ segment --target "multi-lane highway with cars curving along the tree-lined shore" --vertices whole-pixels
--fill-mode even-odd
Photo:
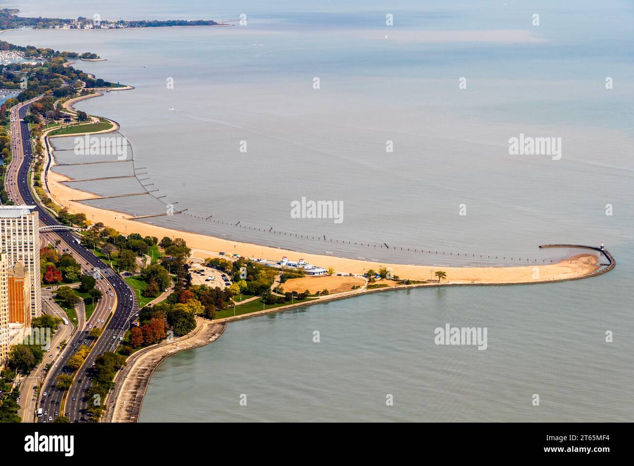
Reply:
[[[48,210],[37,203],[30,190],[29,173],[33,153],[29,125],[23,120],[27,115],[30,103],[31,101],[27,101],[11,109],[10,134],[13,157],[5,174],[5,188],[15,204],[36,206],[41,226],[61,225]],[[105,351],[113,351],[117,347],[119,337],[124,335],[126,329],[131,325],[131,321],[134,321],[136,314],[138,314],[138,303],[136,295],[129,285],[105,262],[94,256],[91,250],[78,244],[78,236],[75,233],[70,230],[61,230],[48,232],[46,237],[51,238],[49,243],[54,246],[57,239],[61,240],[60,245],[56,246],[58,252],[72,254],[75,260],[81,264],[83,273],[98,273],[99,278],[96,286],[101,288],[103,299],[98,302],[83,328],[77,329],[77,332],[56,359],[55,365],[51,367],[44,387],[42,387],[42,397],[37,405],[43,411],[47,411],[47,414],[37,418],[37,420],[48,422],[51,418],[55,419],[55,413],[59,413],[59,415],[67,415],[70,422],[87,422],[90,419],[86,414],[86,403],[98,401],[84,398],[84,394],[91,385],[93,363],[97,356]],[[77,324],[79,325],[79,322]],[[103,333],[96,342],[88,335],[91,327],[103,328]],[[86,358],[84,365],[75,373],[74,384],[68,391],[62,411],[60,408],[63,404],[64,392],[55,388],[56,378],[67,370],[68,358],[75,354],[77,348],[82,344],[92,345],[91,353]],[[68,373],[72,374],[72,372]],[[46,396],[43,395],[44,392],[46,392]]]

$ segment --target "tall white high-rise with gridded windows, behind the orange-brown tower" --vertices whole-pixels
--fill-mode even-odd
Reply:
[[[0,205],[0,251],[8,264],[22,262],[29,272],[32,318],[42,315],[39,247],[36,206]]]

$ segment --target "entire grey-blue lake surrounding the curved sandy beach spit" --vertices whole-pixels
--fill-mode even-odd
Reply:
[[[231,323],[214,344],[162,363],[142,421],[634,419],[634,11],[616,1],[507,3],[21,7],[71,17],[249,15],[245,27],[2,35],[98,53],[108,61],[76,66],[136,87],[77,108],[121,124],[134,166],[146,167],[139,178],[165,197],[93,205],[152,214],[178,202],[187,215],[152,222],[377,261],[449,263],[420,250],[476,256],[452,261],[465,266],[500,262],[480,255],[558,257],[537,249],[552,242],[605,242],[618,260],[592,280],[389,292]],[[561,138],[560,159],[509,155],[521,133]],[[73,143],[55,141],[58,161],[77,161],[64,150]],[[93,178],[134,173],[131,165],[56,171]],[[74,184],[100,195],[143,189],[134,178]],[[302,197],[343,202],[342,223],[292,218],[290,203]],[[446,323],[488,327],[488,349],[434,345]]]

